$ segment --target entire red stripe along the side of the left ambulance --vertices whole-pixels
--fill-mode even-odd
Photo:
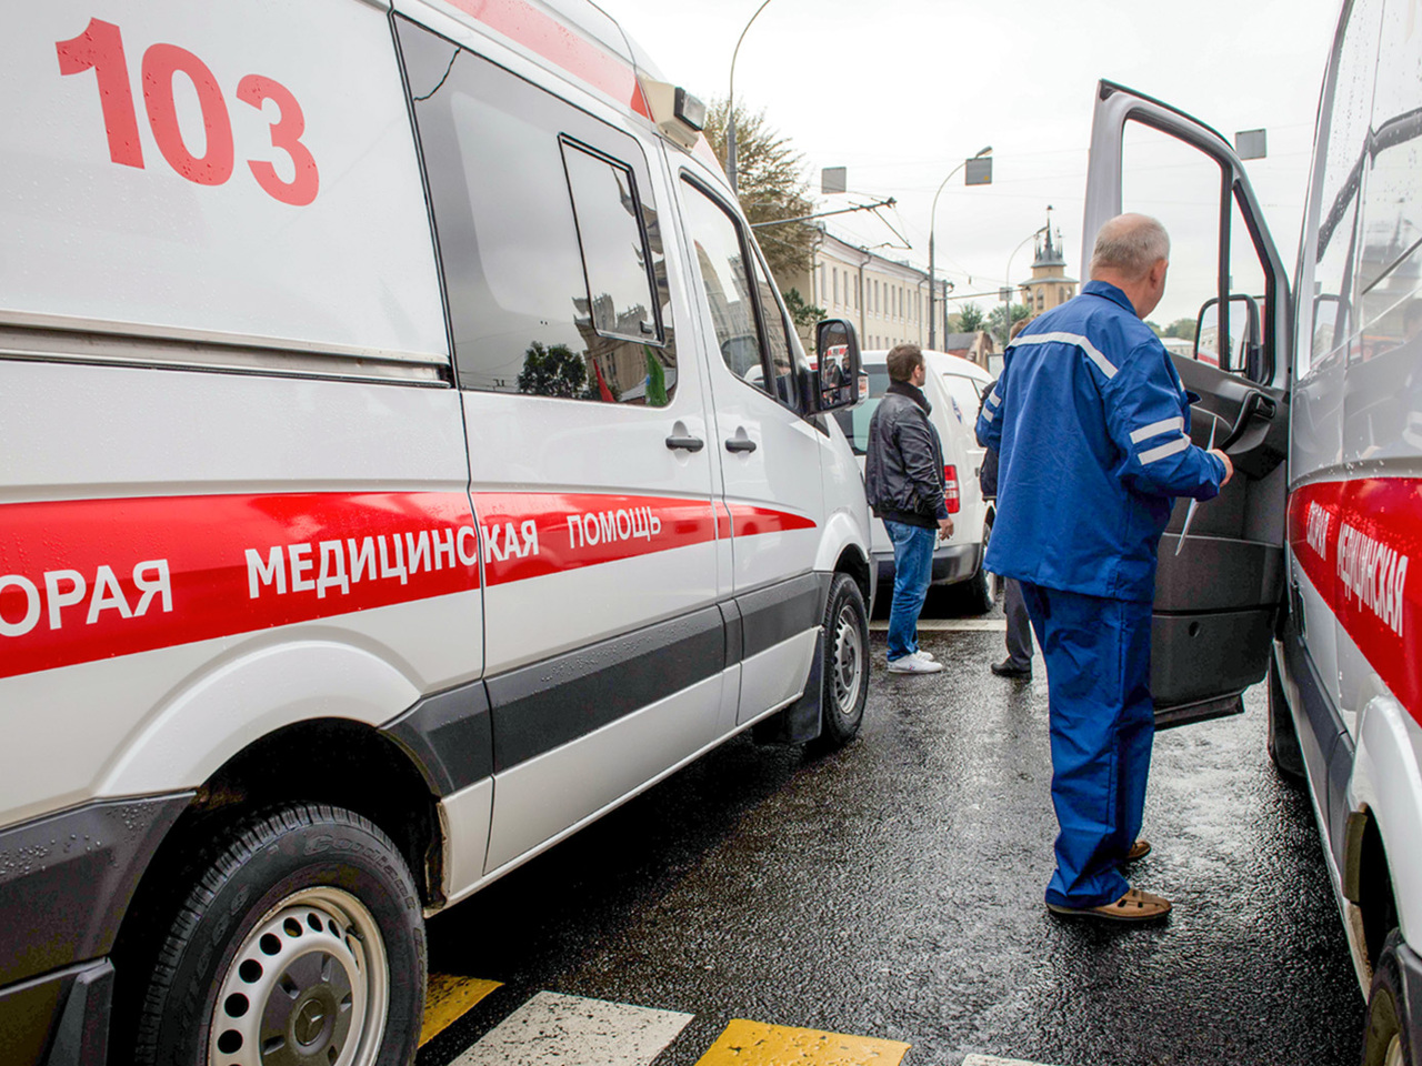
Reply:
[[[603,493],[282,493],[0,506],[0,678],[388,607],[799,515]],[[729,520],[728,520],[729,517]]]

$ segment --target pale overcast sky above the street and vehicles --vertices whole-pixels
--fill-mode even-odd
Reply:
[[[670,81],[704,99],[725,95],[737,37],[761,3],[597,1]],[[995,291],[1047,205],[1078,276],[1099,78],[1165,99],[1229,138],[1263,126],[1268,158],[1249,173],[1293,277],[1338,9],[1340,0],[771,0],[741,45],[735,95],[791,138],[816,192],[822,166],[848,166],[852,192],[896,198],[884,212],[893,229],[865,215],[830,226],[920,267],[934,190],[964,156],[993,145],[993,185],[963,188],[958,175],[939,200],[936,260],[954,296]],[[1140,171],[1126,208],[1159,215],[1175,240],[1172,289],[1152,317],[1193,317],[1189,260],[1212,256],[1196,230],[1210,227],[1217,186],[1169,151],[1128,148],[1126,161]],[[829,200],[823,206],[846,198]],[[899,235],[912,247],[893,247],[904,243]],[[1012,281],[1030,266],[1031,243],[1012,259]]]

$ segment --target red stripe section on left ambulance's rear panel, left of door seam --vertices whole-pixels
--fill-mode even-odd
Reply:
[[[464,493],[0,509],[0,677],[479,587]]]

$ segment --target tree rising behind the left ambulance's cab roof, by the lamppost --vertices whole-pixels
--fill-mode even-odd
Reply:
[[[727,101],[711,102],[707,112],[705,136],[721,165],[725,165]],[[741,210],[751,225],[798,219],[809,215],[809,185],[805,181],[805,159],[765,121],[765,111],[749,112],[735,108],[735,178]],[[765,253],[765,262],[776,279],[791,279],[811,269],[815,230],[798,222],[782,226],[762,226],[755,240]]]

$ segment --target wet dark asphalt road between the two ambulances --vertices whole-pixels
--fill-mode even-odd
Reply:
[[[933,632],[936,677],[876,674],[865,728],[811,758],[739,738],[431,922],[431,968],[505,986],[421,1052],[442,1066],[539,989],[1059,1066],[1354,1066],[1364,1022],[1304,792],[1247,712],[1158,735],[1133,883],[1158,928],[1042,905],[1047,685],[1001,632]]]

